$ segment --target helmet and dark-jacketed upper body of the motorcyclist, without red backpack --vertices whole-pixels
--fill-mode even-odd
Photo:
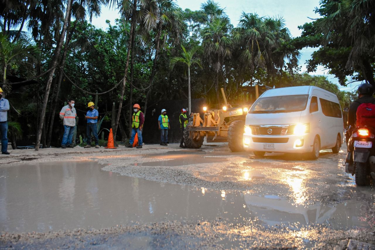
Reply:
[[[362,103],[375,103],[374,87],[371,84],[363,83],[358,87],[358,99],[351,103],[348,111],[348,125],[356,127],[357,109]]]

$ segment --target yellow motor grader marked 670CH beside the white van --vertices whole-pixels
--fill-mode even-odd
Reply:
[[[264,87],[264,89],[270,88]],[[184,130],[185,147],[200,148],[204,137],[207,137],[207,142],[227,141],[231,151],[243,151],[242,135],[245,118],[253,102],[249,99],[246,105],[239,105],[234,108],[228,105],[223,88],[221,88],[221,93],[225,104],[222,109],[207,109],[204,107],[202,115],[200,113],[193,114],[192,121],[189,121]],[[259,96],[258,93],[258,85],[255,85],[256,99]]]

